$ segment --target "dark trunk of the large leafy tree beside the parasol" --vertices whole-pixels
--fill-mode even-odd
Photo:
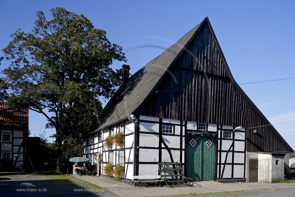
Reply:
[[[56,173],[63,174],[63,152],[62,152],[62,144],[63,144],[63,133],[65,130],[65,125],[60,125],[59,129],[56,130],[56,137],[55,137],[55,145],[57,147],[57,158],[56,158]]]

